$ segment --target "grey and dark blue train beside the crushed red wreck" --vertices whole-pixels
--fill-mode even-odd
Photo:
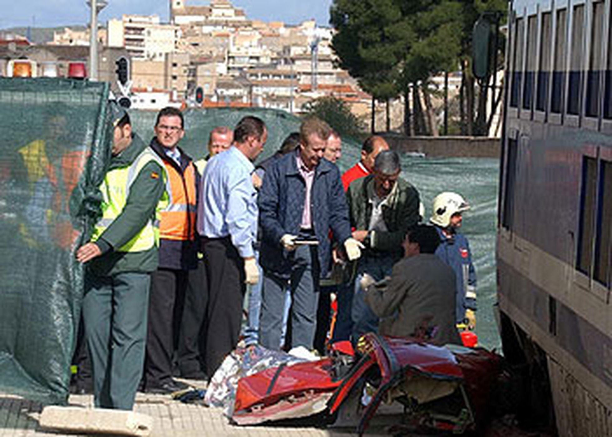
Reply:
[[[524,417],[612,436],[612,0],[510,0],[496,262]]]

